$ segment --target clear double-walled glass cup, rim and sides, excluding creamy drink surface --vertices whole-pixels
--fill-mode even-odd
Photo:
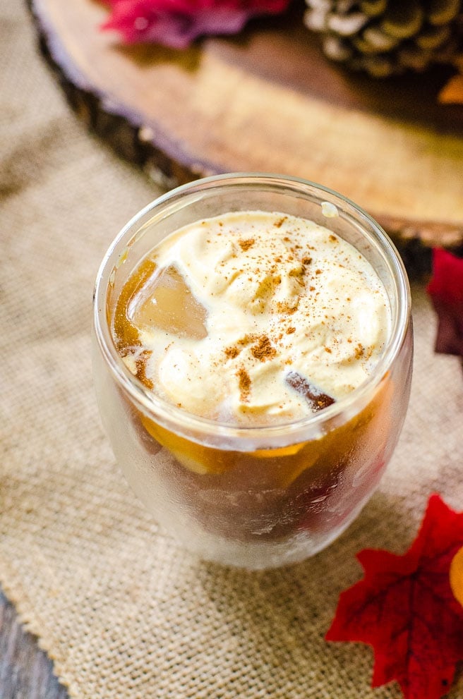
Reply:
[[[327,219],[325,202],[339,215]],[[187,413],[134,377],[112,339],[116,300],[140,260],[182,226],[240,210],[330,228],[371,263],[390,301],[390,336],[373,373],[332,406],[292,423],[236,427]],[[152,202],[112,243],[95,286],[93,348],[104,429],[164,530],[203,559],[248,569],[291,564],[347,528],[395,449],[413,354],[407,274],[380,226],[327,188],[265,174],[205,178]]]

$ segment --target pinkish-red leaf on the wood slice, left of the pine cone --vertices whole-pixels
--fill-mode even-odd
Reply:
[[[108,0],[102,25],[128,44],[150,42],[185,49],[196,37],[236,34],[255,15],[284,11],[290,0]]]

